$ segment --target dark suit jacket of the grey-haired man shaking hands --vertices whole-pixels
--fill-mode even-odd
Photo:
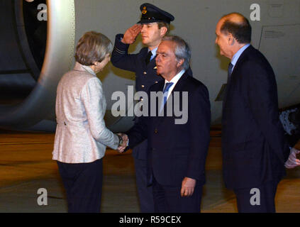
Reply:
[[[149,93],[162,92],[164,85],[165,81],[154,84]],[[172,116],[141,116],[140,121],[128,131],[129,148],[148,138],[148,184],[152,183],[153,176],[158,183],[173,187],[181,187],[184,177],[204,184],[211,121],[209,92],[204,84],[189,77],[187,72],[175,85],[172,95],[174,92],[181,95],[188,92],[187,123],[175,124],[177,117],[174,112]],[[158,107],[157,104],[156,110]],[[150,101],[148,108],[150,112]],[[167,105],[165,113],[166,108]],[[179,109],[182,109],[182,101]]]

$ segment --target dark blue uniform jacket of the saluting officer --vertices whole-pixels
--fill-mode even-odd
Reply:
[[[113,66],[122,70],[135,72],[135,91],[148,92],[152,84],[157,84],[160,81],[165,81],[160,75],[157,75],[155,58],[148,65],[145,63],[148,54],[148,48],[142,48],[137,54],[128,55],[129,45],[122,43],[123,34],[116,35],[115,45],[111,54],[111,63]],[[187,71],[192,76],[191,69]],[[135,123],[138,118],[135,118]],[[138,145],[133,148],[133,157],[146,160],[147,141],[143,145]]]

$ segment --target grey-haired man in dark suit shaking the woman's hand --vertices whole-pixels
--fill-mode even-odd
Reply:
[[[211,113],[208,90],[186,72],[190,56],[181,38],[162,39],[155,61],[164,80],[152,85],[148,96],[163,92],[163,98],[155,105],[149,99],[151,114],[128,131],[129,148],[148,139],[147,182],[153,187],[155,212],[200,211]],[[185,121],[177,121],[178,108]]]

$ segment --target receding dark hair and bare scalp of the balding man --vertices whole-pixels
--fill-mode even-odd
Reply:
[[[238,20],[234,20],[233,17],[238,18]],[[251,42],[252,28],[245,16],[240,13],[230,13],[222,18],[225,18],[225,21],[221,26],[221,32],[223,34],[227,35],[228,33],[231,33],[238,43]]]

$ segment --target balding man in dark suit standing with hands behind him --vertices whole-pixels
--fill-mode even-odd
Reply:
[[[274,72],[250,41],[251,26],[243,15],[230,13],[218,21],[216,44],[230,59],[223,99],[223,178],[235,192],[239,212],[275,212],[289,144],[279,121]]]

